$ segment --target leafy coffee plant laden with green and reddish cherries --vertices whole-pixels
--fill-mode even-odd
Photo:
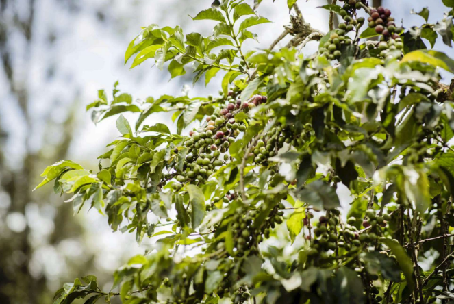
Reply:
[[[192,66],[194,84],[223,74],[220,91],[133,100],[117,83],[88,105],[94,123],[138,119],[118,117],[99,170],[62,160],[37,188],[55,180],[76,212],[88,204],[113,231],[156,241],[112,290],[88,275],[54,304],[454,303],[454,81],[440,82],[454,60],[431,49],[438,36],[451,47],[454,2],[430,1],[448,12],[430,24],[425,8],[405,29],[389,8],[334,0],[322,33],[289,0],[283,33],[248,51],[251,27],[269,22],[260,2],[214,1],[192,17],[216,21],[209,37],[149,25],[129,44],[131,68]],[[144,125],[156,114],[175,127]]]

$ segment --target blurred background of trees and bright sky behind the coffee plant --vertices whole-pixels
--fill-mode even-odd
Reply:
[[[421,21],[409,12],[423,8],[425,1],[405,1],[398,8],[394,3],[396,20]],[[68,197],[56,197],[51,186],[32,190],[53,160],[71,158],[88,168],[97,166],[87,160],[101,154],[104,140],[113,140],[116,132],[110,129],[113,123],[95,127],[84,114],[96,90],[110,90],[119,80],[121,90],[145,98],[192,84],[190,73],[167,83],[168,75],[162,77],[147,64],[129,72],[123,65],[124,51],[140,26],[150,23],[181,25],[209,35],[204,30],[211,27],[190,22],[187,14],[211,2],[0,0],[0,303],[51,303],[53,291],[64,281],[89,273],[99,281],[112,281],[112,271],[125,262],[123,256],[144,251],[134,236],[112,234],[94,211],[73,217],[71,204],[64,203]],[[263,1],[259,12],[274,23],[257,27],[260,43],[249,42],[251,47],[270,45],[281,31],[277,25],[288,22],[286,1],[276,2]],[[321,31],[328,30],[328,14],[316,7],[326,3],[299,1],[306,21]],[[440,14],[441,5],[440,12],[431,10],[436,20]],[[315,45],[309,43],[305,53],[312,53]],[[158,81],[160,86],[149,85]],[[216,81],[211,84],[205,89],[199,83],[192,90],[210,94],[218,87]],[[91,136],[82,144],[86,134]]]

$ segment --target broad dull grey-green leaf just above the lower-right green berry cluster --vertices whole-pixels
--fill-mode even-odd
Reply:
[[[320,179],[312,181],[305,188],[297,191],[297,196],[300,201],[313,205],[320,210],[322,207],[325,209],[340,207],[336,190]]]

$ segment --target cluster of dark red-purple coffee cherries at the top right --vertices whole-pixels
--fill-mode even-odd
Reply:
[[[380,6],[377,10],[370,10],[368,18],[369,27],[374,28],[377,34],[383,35],[383,40],[396,40],[399,38],[399,32],[402,29],[396,27],[394,18],[391,17],[391,11],[388,8]]]

